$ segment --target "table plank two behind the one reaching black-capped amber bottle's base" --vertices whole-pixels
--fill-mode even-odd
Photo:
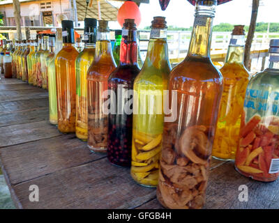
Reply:
[[[0,102],[0,114],[30,111],[32,109],[43,107],[48,107],[48,98]]]

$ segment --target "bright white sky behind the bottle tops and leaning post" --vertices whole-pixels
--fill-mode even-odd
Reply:
[[[153,16],[165,16],[168,25],[179,27],[193,26],[195,7],[187,0],[170,0],[167,10],[160,9],[158,0],[149,0],[149,4],[142,3],[142,23],[138,27],[143,29],[151,25]],[[279,0],[262,0],[259,7],[257,22],[279,22]],[[228,22],[231,24],[250,24],[252,0],[233,0],[217,7],[214,24]],[[119,29],[117,22],[110,23],[111,29]]]

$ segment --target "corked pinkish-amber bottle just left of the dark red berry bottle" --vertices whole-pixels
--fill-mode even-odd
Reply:
[[[110,29],[105,20],[98,21],[96,52],[87,72],[88,97],[88,140],[87,146],[93,152],[107,152],[108,118],[103,112],[102,105],[107,91],[107,79],[116,64],[112,55]]]

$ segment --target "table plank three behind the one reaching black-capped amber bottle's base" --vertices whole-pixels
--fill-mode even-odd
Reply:
[[[47,98],[47,90],[33,88],[17,91],[0,91],[0,102],[29,100],[34,98]]]

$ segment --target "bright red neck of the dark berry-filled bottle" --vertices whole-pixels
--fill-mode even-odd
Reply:
[[[137,31],[123,29],[119,62],[120,65],[137,64]]]

